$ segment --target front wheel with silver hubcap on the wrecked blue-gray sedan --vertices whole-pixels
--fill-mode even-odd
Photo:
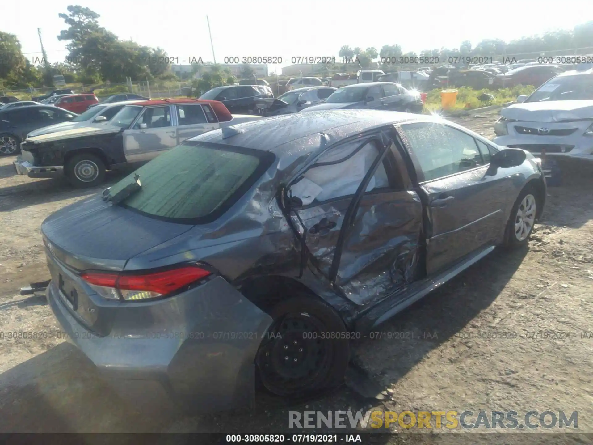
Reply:
[[[513,205],[509,221],[506,225],[507,246],[517,248],[527,246],[537,215],[537,193],[531,186],[525,187],[519,193]]]

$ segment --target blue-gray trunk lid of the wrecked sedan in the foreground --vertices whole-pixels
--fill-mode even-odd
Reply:
[[[64,306],[85,328],[108,335],[119,305],[106,300],[81,278],[89,269],[122,271],[127,260],[192,229],[192,225],[155,220],[94,196],[66,206],[42,224],[52,286]]]

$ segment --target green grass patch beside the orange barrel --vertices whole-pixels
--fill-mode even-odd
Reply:
[[[471,87],[454,88],[457,90],[457,102],[455,106],[449,110],[473,110],[480,107],[487,107],[490,105],[502,105],[506,102],[517,100],[517,96],[521,94],[531,94],[535,90],[534,87],[528,85],[524,87],[518,85],[512,88],[500,88],[500,90],[474,90]],[[483,93],[492,94],[493,100],[480,100],[479,96]],[[426,103],[424,105],[426,112],[435,112],[441,110],[441,90],[436,89],[428,92],[426,96]]]

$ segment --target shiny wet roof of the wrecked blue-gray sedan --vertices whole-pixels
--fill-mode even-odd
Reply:
[[[280,158],[291,158],[318,150],[322,144],[321,134],[327,135],[327,142],[332,144],[362,131],[393,123],[407,120],[435,122],[436,119],[428,115],[387,110],[320,110],[254,120],[210,131],[189,140],[265,150]],[[229,128],[236,129],[237,134],[225,138],[224,130],[228,131]]]

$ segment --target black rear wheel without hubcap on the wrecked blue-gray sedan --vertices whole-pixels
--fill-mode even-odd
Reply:
[[[322,301],[289,298],[270,312],[274,320],[256,355],[264,387],[295,396],[340,386],[349,361],[349,340],[340,316]]]

